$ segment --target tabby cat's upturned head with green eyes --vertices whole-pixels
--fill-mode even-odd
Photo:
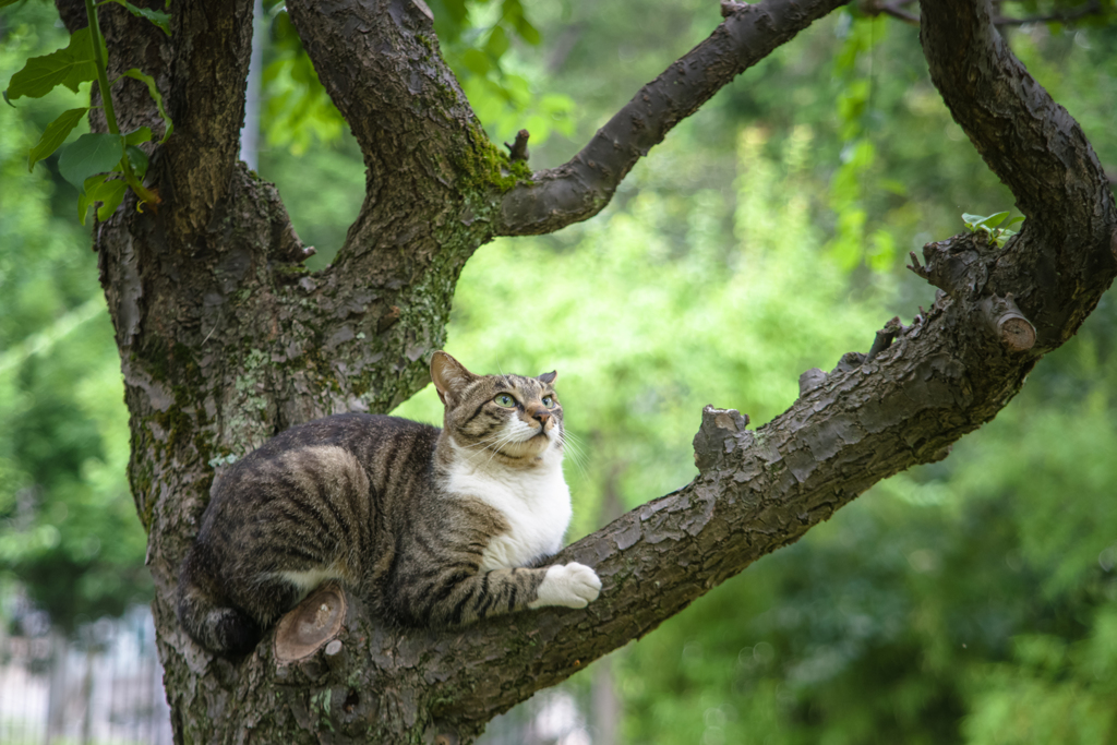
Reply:
[[[562,455],[562,404],[554,389],[558,373],[475,375],[446,352],[436,352],[430,376],[446,405],[443,428],[458,447],[512,460]]]

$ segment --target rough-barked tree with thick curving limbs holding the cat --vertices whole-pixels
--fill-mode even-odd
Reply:
[[[80,3],[60,0],[70,30]],[[247,2],[175,7],[172,34],[103,11],[109,78],[151,74],[175,122],[147,145],[157,212],[134,197],[95,230],[131,412],[130,480],[149,532],[154,613],[183,741],[468,741],[494,715],[653,629],[787,545],[873,483],[944,458],[1070,337],[1117,273],[1115,209],[1073,120],[1003,44],[989,3],[925,3],[920,37],[955,118],[1027,217],[1008,242],[929,243],[939,288],[868,355],[810,371],[756,431],[708,408],[699,476],[562,552],[604,580],[584,611],[458,633],[382,627],[349,599],[332,655],[279,666],[270,637],[239,665],[192,644],[178,565],[221,468],[317,416],[385,411],[427,382],[458,274],[495,236],[551,232],[608,203],[636,161],[718,88],[842,4],[723,3],[710,38],[645,86],[569,163],[532,173],[474,116],[421,0],[289,2],[322,82],[364,153],[367,190],[337,259],[311,273],[279,194],[237,162],[251,37]],[[117,12],[120,11],[120,12]],[[139,80],[115,84],[122,130],[162,127]],[[99,112],[93,128],[103,131]],[[1002,237],[999,237],[1002,238]],[[729,329],[725,329],[729,333]],[[341,650],[341,651],[338,651]]]

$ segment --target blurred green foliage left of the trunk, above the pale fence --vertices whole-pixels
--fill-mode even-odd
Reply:
[[[0,16],[0,78],[65,45],[56,19],[44,3]],[[18,580],[73,631],[145,602],[151,579],[125,477],[127,411],[96,255],[77,229],[57,154],[27,169],[42,127],[73,105],[66,98],[0,106],[0,589]]]

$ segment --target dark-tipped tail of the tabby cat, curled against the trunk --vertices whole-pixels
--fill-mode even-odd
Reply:
[[[260,629],[246,613],[229,608],[192,548],[179,575],[179,623],[214,655],[239,657],[256,648]]]

